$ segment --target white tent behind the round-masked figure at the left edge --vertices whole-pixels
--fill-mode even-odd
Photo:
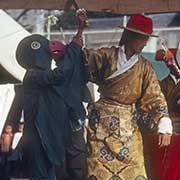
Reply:
[[[10,81],[22,81],[25,69],[16,61],[15,50],[21,39],[29,35],[22,26],[14,21],[7,13],[0,10],[0,74]],[[0,77],[1,79],[2,77]],[[0,82],[0,84],[2,84]],[[14,99],[14,85],[0,85],[0,134]]]

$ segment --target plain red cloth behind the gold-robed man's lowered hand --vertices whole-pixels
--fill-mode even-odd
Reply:
[[[148,135],[154,177],[158,180],[180,180],[180,134],[174,134],[168,147],[158,147],[158,135]]]

